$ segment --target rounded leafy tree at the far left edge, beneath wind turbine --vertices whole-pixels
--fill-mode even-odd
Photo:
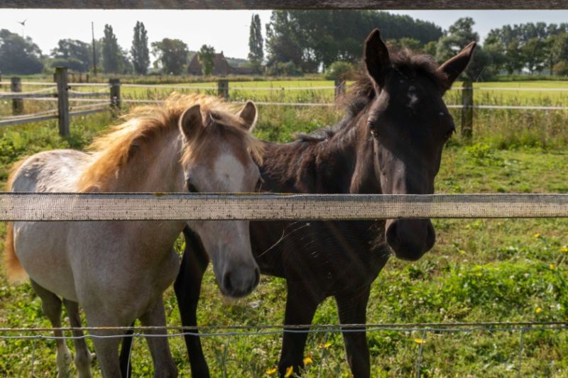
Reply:
[[[31,38],[22,38],[10,30],[0,30],[0,72],[37,74],[43,71],[41,50]]]

